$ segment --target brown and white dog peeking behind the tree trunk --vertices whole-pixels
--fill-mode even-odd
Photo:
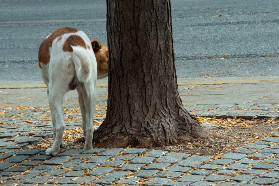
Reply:
[[[96,80],[108,75],[108,47],[90,39],[75,28],[55,30],[39,48],[39,69],[47,85],[54,141],[47,155],[56,156],[62,143],[65,124],[62,116],[64,94],[78,91],[85,135],[84,150],[92,148],[92,117],[96,105]]]

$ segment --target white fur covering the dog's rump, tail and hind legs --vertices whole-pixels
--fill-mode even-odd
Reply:
[[[72,46],[73,52],[64,52],[63,44],[70,35],[79,35],[90,49]],[[69,91],[69,83],[75,75],[79,80],[78,100],[82,113],[82,129],[86,136],[84,150],[92,148],[93,126],[92,117],[96,105],[97,63],[91,48],[90,39],[82,31],[64,34],[57,42],[55,39],[50,48],[50,62],[40,63],[42,78],[48,87],[48,101],[51,109],[54,141],[47,155],[56,156],[62,143],[65,124],[62,116],[64,94]],[[87,72],[87,73],[85,73]]]

